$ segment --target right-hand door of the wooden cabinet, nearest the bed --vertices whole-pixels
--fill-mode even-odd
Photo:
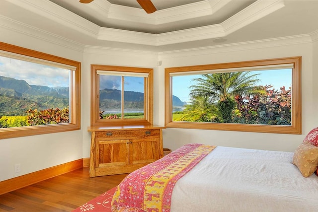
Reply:
[[[159,138],[134,139],[129,144],[129,163],[148,164],[160,158]]]

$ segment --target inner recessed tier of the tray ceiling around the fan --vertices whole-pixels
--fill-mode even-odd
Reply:
[[[152,0],[158,9],[152,14],[137,0],[51,1],[100,27],[160,34],[220,24],[255,0]]]

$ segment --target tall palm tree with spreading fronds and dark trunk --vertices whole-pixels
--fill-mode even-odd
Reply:
[[[223,122],[231,123],[232,111],[236,105],[234,96],[260,94],[264,91],[255,86],[258,74],[248,71],[202,74],[195,78],[195,85],[190,86],[190,96],[208,97],[217,103]]]

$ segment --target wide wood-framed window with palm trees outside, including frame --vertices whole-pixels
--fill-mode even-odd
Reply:
[[[165,69],[165,124],[301,134],[301,57]]]

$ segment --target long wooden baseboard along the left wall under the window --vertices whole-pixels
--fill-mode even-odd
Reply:
[[[0,182],[0,195],[83,167],[83,159],[74,160]]]

